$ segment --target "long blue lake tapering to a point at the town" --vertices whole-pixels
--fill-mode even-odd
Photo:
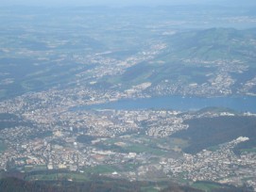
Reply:
[[[167,96],[137,100],[120,100],[108,104],[82,105],[72,108],[72,110],[86,109],[173,109],[179,111],[199,110],[205,107],[225,107],[238,112],[256,113],[256,97],[181,97]]]

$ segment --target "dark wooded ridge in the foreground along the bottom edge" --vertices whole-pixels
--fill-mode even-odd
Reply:
[[[190,186],[166,183],[164,192],[200,192]],[[50,181],[27,182],[22,179],[8,177],[0,180],[0,189],[5,192],[144,192],[158,186],[153,182],[128,182],[126,180],[110,178],[92,178],[88,182]]]

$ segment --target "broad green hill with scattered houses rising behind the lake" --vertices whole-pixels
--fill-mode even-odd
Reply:
[[[163,41],[167,48],[162,54],[128,68],[121,75],[104,78],[104,81],[118,82],[123,88],[151,82],[150,94],[162,89],[160,95],[166,92],[202,96],[200,91],[195,92],[196,88],[213,86],[214,89],[219,85],[217,79],[222,78],[222,82],[230,82],[225,89],[232,94],[241,90],[246,94],[255,92],[254,87],[244,86],[254,81],[256,74],[256,28],[193,30],[167,36]],[[193,85],[199,87],[191,88]],[[168,92],[170,87],[172,91]],[[211,96],[221,91],[214,89]]]

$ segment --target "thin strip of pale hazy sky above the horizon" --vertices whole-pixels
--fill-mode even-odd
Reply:
[[[160,6],[178,4],[256,5],[256,0],[0,0],[1,6]],[[254,3],[253,3],[254,2]]]

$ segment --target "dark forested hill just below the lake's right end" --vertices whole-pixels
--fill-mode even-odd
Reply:
[[[255,147],[255,117],[223,116],[186,120],[185,123],[189,124],[189,128],[173,135],[173,137],[189,140],[189,146],[184,149],[184,152],[200,152],[203,149],[229,142],[239,136],[249,138],[248,141],[240,144],[240,150]]]

